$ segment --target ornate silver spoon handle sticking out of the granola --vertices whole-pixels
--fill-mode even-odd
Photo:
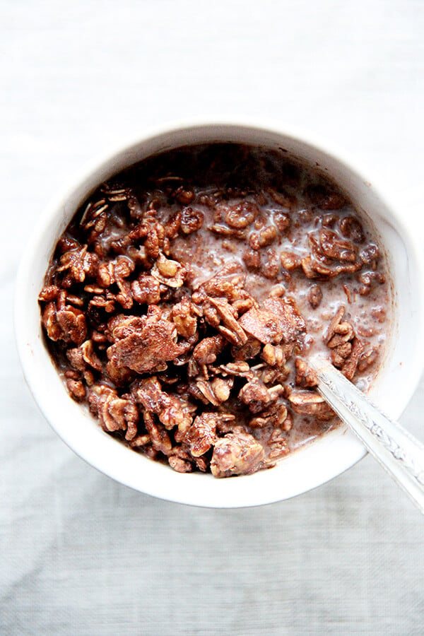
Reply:
[[[317,356],[311,366],[324,399],[424,514],[424,445],[385,416],[329,360]]]

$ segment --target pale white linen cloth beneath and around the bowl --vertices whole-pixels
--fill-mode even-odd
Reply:
[[[135,493],[40,416],[11,310],[50,194],[151,124],[265,115],[399,189],[419,183],[422,2],[2,0],[0,11],[0,632],[422,635],[423,518],[370,458],[257,509]],[[423,389],[402,418],[422,439]]]

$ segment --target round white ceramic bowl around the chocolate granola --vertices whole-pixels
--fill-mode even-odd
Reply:
[[[372,218],[387,249],[396,293],[394,337],[372,399],[399,418],[423,368],[424,295],[420,252],[405,222],[408,211],[395,212],[352,163],[310,136],[278,126],[252,123],[179,124],[143,134],[83,170],[37,220],[20,266],[16,287],[16,335],[25,378],[52,428],[89,464],[117,481],[163,499],[208,507],[242,507],[288,499],[328,481],[365,455],[350,432],[335,432],[298,450],[268,471],[215,479],[202,473],[176,473],[133,452],[103,432],[67,394],[49,358],[40,328],[37,295],[59,235],[100,182],[136,161],[177,146],[233,141],[285,148],[288,156],[318,164]]]

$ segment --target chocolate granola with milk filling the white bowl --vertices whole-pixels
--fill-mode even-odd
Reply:
[[[384,294],[377,244],[337,189],[278,153],[212,145],[103,184],[57,243],[40,305],[69,393],[103,430],[228,477],[334,425],[307,355],[369,372]]]

